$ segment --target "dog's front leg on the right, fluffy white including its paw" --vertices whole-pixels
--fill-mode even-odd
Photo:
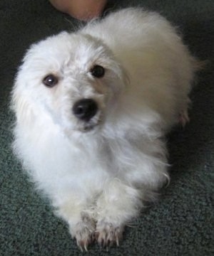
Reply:
[[[141,208],[140,192],[119,179],[106,186],[97,201],[96,239],[101,247],[119,244],[125,225]]]

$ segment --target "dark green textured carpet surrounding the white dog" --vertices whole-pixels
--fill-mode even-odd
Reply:
[[[180,28],[185,43],[201,60],[191,94],[190,124],[168,137],[171,182],[160,201],[126,228],[120,247],[109,252],[91,245],[84,255],[214,255],[214,1],[111,1],[110,9],[145,6],[160,11]],[[9,95],[26,48],[35,41],[72,31],[79,22],[45,0],[0,1],[0,255],[82,255],[65,223],[34,191],[11,151]]]

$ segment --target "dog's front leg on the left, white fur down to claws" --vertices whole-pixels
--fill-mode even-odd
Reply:
[[[88,202],[80,201],[80,198],[71,196],[58,208],[58,215],[69,225],[69,231],[80,249],[86,250],[93,242],[96,230],[96,221],[88,210]]]

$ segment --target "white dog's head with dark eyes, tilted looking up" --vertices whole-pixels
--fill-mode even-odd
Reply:
[[[68,134],[88,132],[105,122],[125,84],[123,68],[103,42],[63,32],[26,53],[13,91],[14,109],[18,122],[36,122],[45,114]]]

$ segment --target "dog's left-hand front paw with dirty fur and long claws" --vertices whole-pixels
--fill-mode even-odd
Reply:
[[[88,251],[88,245],[90,245],[95,238],[96,223],[90,218],[76,224],[74,236],[76,238],[76,244],[81,251]]]

